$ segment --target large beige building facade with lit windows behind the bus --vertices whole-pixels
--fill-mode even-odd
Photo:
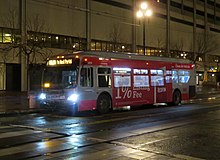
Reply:
[[[198,84],[216,83],[220,2],[146,0],[152,16],[137,18],[141,2],[0,0],[0,90],[34,88],[36,64],[75,50],[187,58],[196,62]]]

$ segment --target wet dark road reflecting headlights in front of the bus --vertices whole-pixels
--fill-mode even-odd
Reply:
[[[0,118],[0,159],[220,159],[220,100]],[[146,109],[147,108],[147,109]]]

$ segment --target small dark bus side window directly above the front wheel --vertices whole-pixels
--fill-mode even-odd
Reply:
[[[98,68],[98,87],[111,87],[110,68]]]

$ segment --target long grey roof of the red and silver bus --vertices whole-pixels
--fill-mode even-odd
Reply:
[[[66,54],[65,57],[71,57],[73,55],[79,56],[90,56],[90,57],[100,57],[100,58],[115,58],[115,59],[129,59],[129,60],[148,60],[148,61],[160,61],[160,62],[175,62],[175,63],[192,63],[188,59],[178,59],[170,57],[157,57],[157,56],[146,56],[139,55],[137,53],[127,53],[127,52],[102,52],[102,51],[79,51]]]

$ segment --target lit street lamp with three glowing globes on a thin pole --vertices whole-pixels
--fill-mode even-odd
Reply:
[[[136,13],[137,18],[143,18],[143,47],[144,47],[144,55],[145,52],[145,26],[146,26],[146,17],[150,17],[152,15],[152,10],[149,9],[148,4],[146,2],[142,2],[140,4],[140,8]]]

